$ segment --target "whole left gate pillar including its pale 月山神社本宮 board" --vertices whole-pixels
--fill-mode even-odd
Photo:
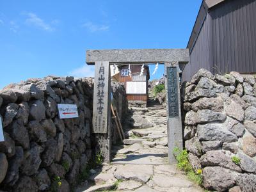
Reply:
[[[110,162],[110,66],[108,61],[95,62],[93,93],[93,133],[100,154],[105,162]]]

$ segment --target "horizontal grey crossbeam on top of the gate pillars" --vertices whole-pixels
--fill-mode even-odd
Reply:
[[[140,64],[179,61],[189,62],[188,49],[109,49],[86,51],[86,63],[109,61],[116,64]]]

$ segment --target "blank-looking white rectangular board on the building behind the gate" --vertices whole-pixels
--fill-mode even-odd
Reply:
[[[127,81],[126,93],[127,94],[146,94],[147,93],[146,81]]]

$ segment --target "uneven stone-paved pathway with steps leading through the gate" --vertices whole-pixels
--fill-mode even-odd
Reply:
[[[150,100],[148,108],[131,108],[129,115],[128,139],[113,146],[113,161],[91,175],[93,186],[85,191],[204,191],[168,164],[166,107]]]

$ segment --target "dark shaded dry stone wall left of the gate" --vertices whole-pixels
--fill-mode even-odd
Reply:
[[[125,111],[120,84],[113,91]],[[60,119],[57,104],[76,104],[79,118]],[[93,158],[92,105],[92,78],[48,76],[1,90],[0,191],[70,191]]]

